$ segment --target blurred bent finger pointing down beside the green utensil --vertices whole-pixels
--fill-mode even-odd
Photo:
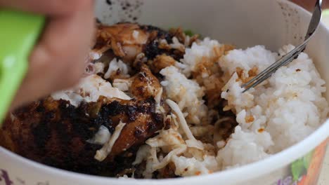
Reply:
[[[50,20],[30,56],[30,67],[12,107],[69,88],[84,71],[94,29],[93,7]]]

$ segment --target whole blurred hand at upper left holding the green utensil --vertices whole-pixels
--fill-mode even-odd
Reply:
[[[93,38],[92,0],[0,0],[0,7],[49,18],[11,109],[77,83]]]

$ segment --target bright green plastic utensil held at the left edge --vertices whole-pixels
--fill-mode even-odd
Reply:
[[[44,22],[42,15],[0,9],[0,126],[25,77]]]

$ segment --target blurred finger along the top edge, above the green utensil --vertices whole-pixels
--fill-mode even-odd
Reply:
[[[44,15],[64,15],[92,6],[92,0],[0,0],[0,7]]]

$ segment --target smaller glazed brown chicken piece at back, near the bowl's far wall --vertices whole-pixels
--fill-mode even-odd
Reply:
[[[119,23],[112,26],[98,25],[96,43],[93,47],[94,60],[99,59],[108,50],[124,62],[134,62],[136,56],[144,53],[148,60],[153,60],[157,55],[166,54],[179,60],[183,53],[172,48],[162,48],[160,41],[172,43],[176,32],[166,32],[158,27],[141,26],[133,23]],[[181,38],[181,37],[179,37]]]

